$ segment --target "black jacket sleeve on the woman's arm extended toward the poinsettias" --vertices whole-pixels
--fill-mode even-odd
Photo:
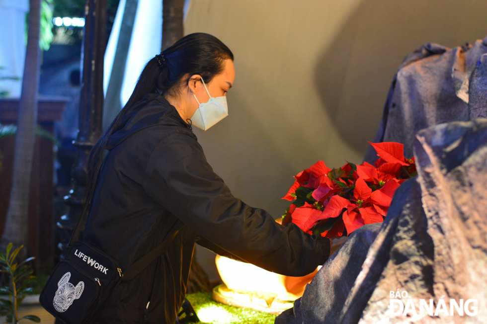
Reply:
[[[199,236],[268,271],[303,276],[329,256],[329,239],[295,224],[279,225],[265,210],[234,197],[189,135],[172,133],[159,142],[143,186]]]

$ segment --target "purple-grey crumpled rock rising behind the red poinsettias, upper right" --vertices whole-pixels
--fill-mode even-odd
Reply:
[[[487,79],[482,73],[475,74],[479,58],[487,53],[487,37],[452,49],[430,43],[406,56],[391,84],[384,106],[382,121],[372,142],[399,142],[404,144],[407,158],[413,155],[416,133],[424,128],[453,121],[468,121],[487,117]],[[480,71],[482,72],[482,71]],[[469,88],[474,81],[474,89]],[[480,98],[476,98],[480,95]],[[469,101],[475,104],[471,113]],[[470,113],[470,114],[469,114]],[[365,161],[377,160],[370,147]]]

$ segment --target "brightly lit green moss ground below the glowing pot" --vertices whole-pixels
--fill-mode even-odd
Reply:
[[[211,293],[188,294],[201,324],[274,324],[276,315],[217,303]]]

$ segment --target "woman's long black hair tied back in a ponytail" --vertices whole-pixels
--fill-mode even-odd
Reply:
[[[231,59],[232,51],[215,36],[205,33],[194,33],[179,39],[174,45],[151,59],[142,70],[129,98],[110,127],[101,135],[88,158],[88,174],[85,198],[94,191],[99,169],[103,162],[104,152],[110,135],[120,128],[120,123],[127,110],[141,100],[147,93],[158,92],[175,94],[189,78],[195,74],[210,82],[216,75],[223,72],[224,61]],[[85,199],[89,205],[88,199]]]

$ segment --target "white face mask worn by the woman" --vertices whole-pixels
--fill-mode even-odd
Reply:
[[[193,93],[196,102],[198,102],[198,109],[194,112],[194,115],[191,117],[192,125],[201,128],[202,130],[206,131],[211,126],[218,123],[220,120],[228,116],[228,107],[227,107],[227,97],[212,97],[208,88],[206,87],[203,78],[201,78],[203,85],[205,86],[206,92],[210,96],[208,102],[200,103],[198,98]]]

